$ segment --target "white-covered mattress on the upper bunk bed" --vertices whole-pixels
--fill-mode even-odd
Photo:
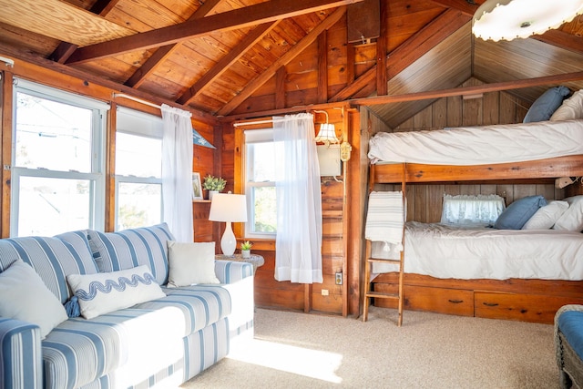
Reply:
[[[583,120],[379,132],[371,163],[485,165],[583,154]]]

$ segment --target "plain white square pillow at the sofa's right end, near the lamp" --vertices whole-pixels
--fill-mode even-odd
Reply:
[[[215,274],[215,242],[168,241],[168,286],[220,283]]]

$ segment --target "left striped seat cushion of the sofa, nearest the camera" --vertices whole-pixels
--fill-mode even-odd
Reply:
[[[125,309],[62,322],[43,341],[45,388],[77,388],[116,372],[129,387],[179,360],[184,319],[179,310]]]

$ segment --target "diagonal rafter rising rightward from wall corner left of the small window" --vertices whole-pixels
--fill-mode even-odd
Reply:
[[[253,78],[247,84],[247,86],[240,91],[239,95],[233,97],[227,104],[220,108],[218,115],[229,115],[233,109],[239,107],[247,97],[250,97],[253,92],[269,81],[270,78],[275,75],[277,69],[288,64],[290,61],[292,61],[293,58],[301,54],[306,47],[312,45],[312,43],[318,38],[318,36],[320,36],[320,34],[322,34],[323,31],[335,25],[345,13],[346,7],[341,6],[331,15],[322,20],[322,22],[318,26],[315,26],[307,36],[304,36],[302,40],[295,44],[283,56],[276,59],[270,67],[261,73],[261,75]]]

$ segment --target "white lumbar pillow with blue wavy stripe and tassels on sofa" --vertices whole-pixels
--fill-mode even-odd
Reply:
[[[166,297],[147,265],[124,271],[69,274],[66,282],[86,319]]]

